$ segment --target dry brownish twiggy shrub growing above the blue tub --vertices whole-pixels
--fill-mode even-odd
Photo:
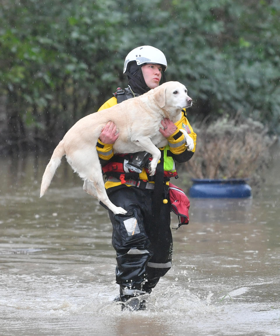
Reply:
[[[196,152],[186,169],[193,178],[251,178],[258,181],[269,165],[270,147],[276,137],[261,122],[223,117],[195,125]]]

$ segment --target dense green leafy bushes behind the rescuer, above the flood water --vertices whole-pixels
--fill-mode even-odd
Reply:
[[[191,121],[238,111],[280,133],[279,13],[264,0],[3,0],[2,136],[53,147],[126,86],[124,58],[144,44],[188,86]]]

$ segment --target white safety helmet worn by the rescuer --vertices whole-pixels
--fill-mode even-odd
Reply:
[[[160,64],[164,67],[164,71],[167,69],[167,61],[164,53],[150,45],[137,47],[127,54],[124,61],[123,73],[126,72],[127,65],[131,61],[136,61],[137,65],[144,63]]]

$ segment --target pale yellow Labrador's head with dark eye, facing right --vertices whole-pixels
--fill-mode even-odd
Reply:
[[[166,82],[154,89],[154,99],[161,109],[171,112],[192,106],[185,85],[179,82]]]

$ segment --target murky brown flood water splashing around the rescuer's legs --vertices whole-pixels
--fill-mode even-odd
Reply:
[[[48,159],[0,159],[1,335],[280,335],[279,156],[252,199],[190,200],[137,312],[113,301],[109,217],[66,163],[39,199]]]

